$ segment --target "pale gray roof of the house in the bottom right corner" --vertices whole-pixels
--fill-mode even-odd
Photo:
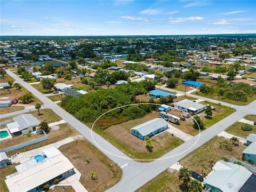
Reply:
[[[222,191],[239,191],[252,175],[252,172],[243,166],[222,160],[218,161],[212,169],[213,173],[207,176],[204,182]]]

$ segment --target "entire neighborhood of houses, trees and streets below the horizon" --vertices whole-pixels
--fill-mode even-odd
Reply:
[[[0,49],[0,191],[256,191],[254,34]]]

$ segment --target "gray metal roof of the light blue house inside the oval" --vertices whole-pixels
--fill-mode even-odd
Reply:
[[[141,135],[146,136],[166,125],[168,125],[168,122],[163,118],[154,118],[146,123],[133,127],[131,130],[137,130]]]

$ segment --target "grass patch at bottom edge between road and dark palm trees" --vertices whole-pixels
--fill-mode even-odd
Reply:
[[[182,191],[179,187],[181,184],[182,181],[179,180],[178,171],[173,173],[164,171],[137,189],[136,192],[180,192]]]

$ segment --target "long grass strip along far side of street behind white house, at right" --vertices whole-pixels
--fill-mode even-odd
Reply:
[[[253,97],[248,97],[248,100],[246,102],[244,102],[244,101],[233,101],[233,100],[229,100],[229,99],[222,99],[222,98],[220,98],[216,95],[203,94],[199,91],[195,91],[191,94],[198,95],[198,96],[205,97],[205,98],[209,98],[209,99],[214,99],[214,100],[217,100],[217,101],[223,101],[223,102],[226,102],[226,103],[230,103],[231,105],[239,105],[239,106],[248,105],[249,103],[251,103],[252,101],[254,101],[256,99],[256,95],[254,95]]]

